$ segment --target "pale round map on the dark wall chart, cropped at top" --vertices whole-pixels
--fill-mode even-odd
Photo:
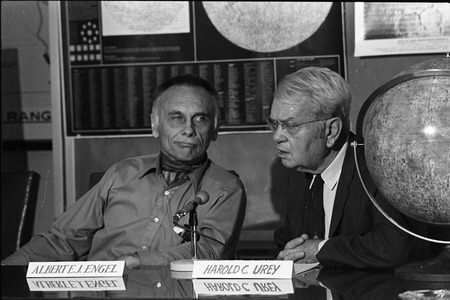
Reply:
[[[289,49],[319,29],[332,2],[203,2],[216,29],[256,52]]]

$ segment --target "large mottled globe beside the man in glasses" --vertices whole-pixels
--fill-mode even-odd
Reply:
[[[431,69],[450,72],[450,59],[399,75]],[[365,116],[364,148],[375,184],[399,211],[450,224],[450,75],[413,77],[378,96]]]

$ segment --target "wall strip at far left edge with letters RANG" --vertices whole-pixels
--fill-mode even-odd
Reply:
[[[54,219],[50,65],[44,57],[48,29],[48,1],[1,2],[2,51],[18,54],[12,68],[2,57],[2,171],[28,169],[41,175],[35,233],[47,230]],[[18,72],[14,88],[5,86],[11,72]],[[7,113],[19,117],[12,120]],[[22,146],[5,150],[6,144]]]

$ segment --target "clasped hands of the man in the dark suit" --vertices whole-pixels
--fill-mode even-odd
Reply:
[[[299,263],[315,263],[321,239],[309,239],[307,234],[289,241],[284,250],[278,254],[278,260],[293,260]]]

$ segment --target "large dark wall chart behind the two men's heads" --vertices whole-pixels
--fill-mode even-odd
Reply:
[[[337,2],[61,2],[68,136],[151,133],[153,92],[193,73],[218,91],[220,131],[266,130],[280,78],[345,77]]]

